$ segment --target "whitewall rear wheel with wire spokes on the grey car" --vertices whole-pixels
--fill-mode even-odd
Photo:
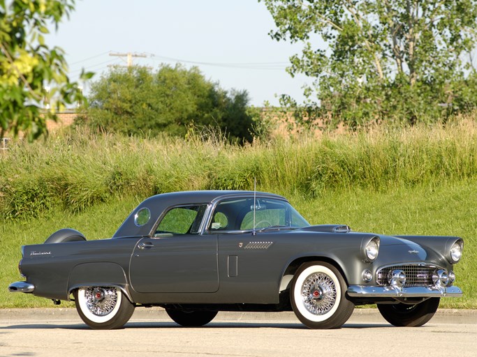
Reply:
[[[96,330],[122,328],[134,312],[134,305],[117,287],[82,287],[73,295],[81,319]]]

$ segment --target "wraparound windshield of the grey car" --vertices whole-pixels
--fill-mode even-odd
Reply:
[[[267,227],[307,227],[309,223],[281,199],[226,199],[217,204],[209,231],[243,231]]]

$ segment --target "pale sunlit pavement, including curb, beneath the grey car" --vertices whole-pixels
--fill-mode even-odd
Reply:
[[[338,330],[304,328],[291,313],[219,313],[182,328],[137,309],[126,328],[93,331],[73,309],[0,310],[0,356],[477,356],[477,311],[443,310],[421,328],[395,328],[357,309]]]

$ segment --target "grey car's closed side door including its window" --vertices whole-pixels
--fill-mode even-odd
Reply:
[[[205,205],[171,208],[131,257],[130,279],[140,293],[198,293],[219,289],[217,235],[200,235]]]

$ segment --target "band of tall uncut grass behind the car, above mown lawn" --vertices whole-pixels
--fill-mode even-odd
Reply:
[[[117,195],[177,190],[260,190],[320,197],[329,190],[376,191],[477,177],[477,123],[376,128],[274,139],[249,146],[220,137],[140,139],[67,131],[13,142],[0,155],[0,219],[73,213]]]

